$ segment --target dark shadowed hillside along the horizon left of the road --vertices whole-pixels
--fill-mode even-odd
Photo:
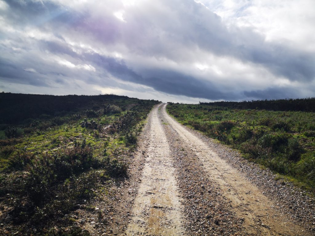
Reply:
[[[83,109],[98,110],[104,104],[120,100],[120,107],[125,101],[133,99],[137,104],[147,100],[128,98],[112,94],[106,95],[39,95],[21,93],[0,93],[0,124],[18,124],[26,119],[45,118],[46,116],[60,116],[74,113]]]

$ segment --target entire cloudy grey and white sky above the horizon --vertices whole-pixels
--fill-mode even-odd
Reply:
[[[0,91],[315,96],[314,0],[0,0]]]

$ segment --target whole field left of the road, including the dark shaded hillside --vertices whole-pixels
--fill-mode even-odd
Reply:
[[[130,153],[157,103],[116,95],[1,93],[1,222],[12,223],[12,232],[35,234],[27,227],[32,225],[47,235],[88,235],[69,217],[54,225],[69,226],[67,231],[48,225],[79,203],[89,210],[89,199],[128,177]]]

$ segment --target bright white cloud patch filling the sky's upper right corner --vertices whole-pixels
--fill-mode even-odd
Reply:
[[[313,0],[201,0],[228,25],[255,27],[267,41],[315,52]]]

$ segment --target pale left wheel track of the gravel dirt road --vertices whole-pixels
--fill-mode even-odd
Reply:
[[[126,235],[184,235],[182,206],[158,109],[150,113],[151,128],[138,195]]]

